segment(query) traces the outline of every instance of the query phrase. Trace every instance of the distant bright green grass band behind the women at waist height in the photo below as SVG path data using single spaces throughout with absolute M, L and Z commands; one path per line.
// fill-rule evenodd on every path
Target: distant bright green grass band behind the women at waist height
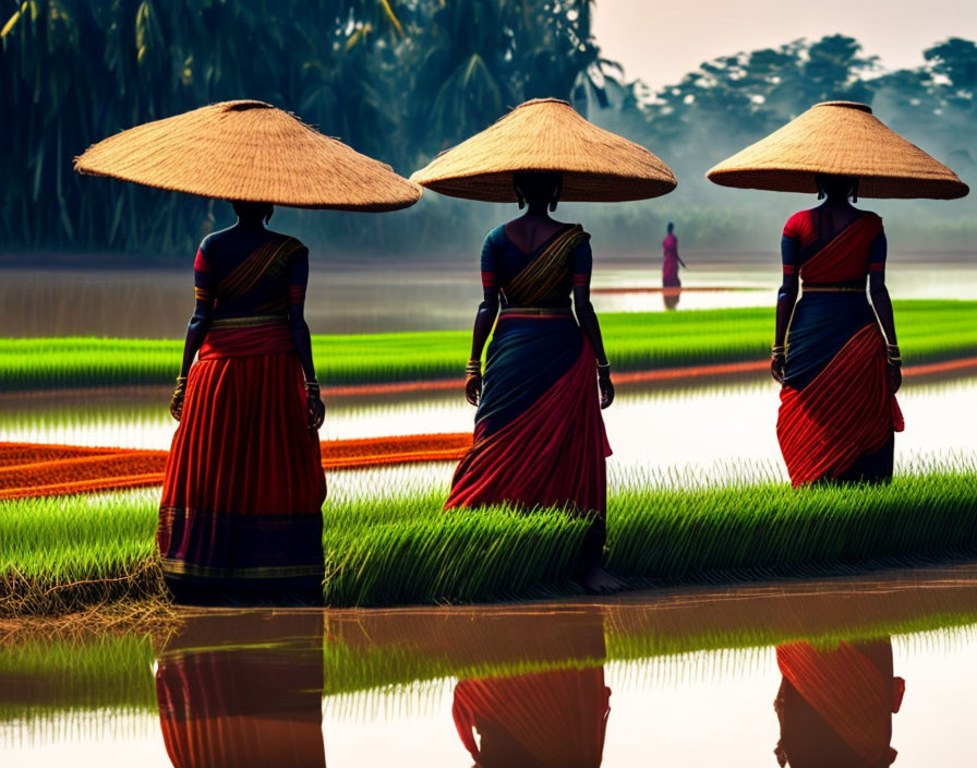
M 907 364 L 977 353 L 977 301 L 895 303 Z M 606 314 L 615 370 L 651 370 L 763 359 L 773 309 Z M 460 376 L 468 331 L 315 336 L 319 377 L 365 384 Z M 0 389 L 171 383 L 182 343 L 170 339 L 2 339 Z

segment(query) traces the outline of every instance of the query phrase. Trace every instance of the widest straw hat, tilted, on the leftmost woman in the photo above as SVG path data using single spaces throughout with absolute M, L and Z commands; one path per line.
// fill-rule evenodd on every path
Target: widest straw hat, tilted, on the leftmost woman
M 421 188 L 263 101 L 225 101 L 137 125 L 75 158 L 81 173 L 204 197 L 395 211 Z

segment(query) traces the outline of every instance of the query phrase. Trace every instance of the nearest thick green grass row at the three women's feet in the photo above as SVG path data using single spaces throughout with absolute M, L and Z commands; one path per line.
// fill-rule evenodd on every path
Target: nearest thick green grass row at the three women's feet
M 390 488 L 398 478 L 391 476 Z M 977 468 L 931 468 L 888 487 L 780 483 L 610 499 L 608 565 L 640 583 L 803 575 L 977 552 Z M 333 605 L 465 602 L 572 591 L 587 523 L 559 511 L 442 509 L 441 491 L 324 507 Z M 0 612 L 52 612 L 161 593 L 157 493 L 0 504 Z

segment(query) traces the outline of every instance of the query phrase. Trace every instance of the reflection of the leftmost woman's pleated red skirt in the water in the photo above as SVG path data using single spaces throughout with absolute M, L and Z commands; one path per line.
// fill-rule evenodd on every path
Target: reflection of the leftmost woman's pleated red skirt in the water
M 323 616 L 191 616 L 156 696 L 174 768 L 325 768 Z

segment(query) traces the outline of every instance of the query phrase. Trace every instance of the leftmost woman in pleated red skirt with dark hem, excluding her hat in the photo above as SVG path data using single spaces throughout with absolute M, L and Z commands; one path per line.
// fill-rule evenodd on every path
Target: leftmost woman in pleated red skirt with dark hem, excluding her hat
M 234 212 L 238 223 L 208 236 L 194 263 L 159 509 L 162 569 L 181 601 L 321 602 L 324 407 L 303 315 L 309 251 L 265 229 L 270 205 Z

